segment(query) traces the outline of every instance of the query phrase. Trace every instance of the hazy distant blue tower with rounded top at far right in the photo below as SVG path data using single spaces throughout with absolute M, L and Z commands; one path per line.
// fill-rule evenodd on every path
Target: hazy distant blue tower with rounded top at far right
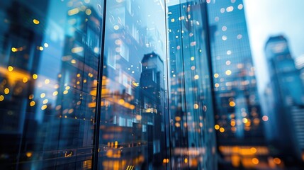
M 303 84 L 300 70 L 282 35 L 269 38 L 265 45 L 265 55 L 269 69 L 269 84 L 266 100 L 269 108 L 269 140 L 283 159 L 302 159 L 303 154 Z

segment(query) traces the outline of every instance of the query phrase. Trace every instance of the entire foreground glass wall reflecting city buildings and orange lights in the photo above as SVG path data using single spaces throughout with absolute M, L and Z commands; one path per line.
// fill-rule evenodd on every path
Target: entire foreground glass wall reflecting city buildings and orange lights
M 201 1 L 1 1 L 4 169 L 216 169 Z

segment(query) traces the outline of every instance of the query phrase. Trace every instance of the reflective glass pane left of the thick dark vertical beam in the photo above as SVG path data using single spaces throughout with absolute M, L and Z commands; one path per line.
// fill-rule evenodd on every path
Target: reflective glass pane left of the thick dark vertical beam
M 100 1 L 1 1 L 1 166 L 91 169 Z

